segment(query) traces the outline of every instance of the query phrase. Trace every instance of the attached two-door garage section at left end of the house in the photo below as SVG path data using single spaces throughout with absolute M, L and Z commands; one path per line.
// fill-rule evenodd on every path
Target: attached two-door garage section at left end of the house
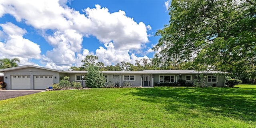
M 64 71 L 33 65 L 0 69 L 4 73 L 7 90 L 45 90 L 52 83 L 59 83 Z

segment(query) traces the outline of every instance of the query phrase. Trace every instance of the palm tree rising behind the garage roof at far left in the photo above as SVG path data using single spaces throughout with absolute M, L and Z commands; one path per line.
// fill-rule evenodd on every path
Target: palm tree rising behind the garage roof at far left
M 6 69 L 9 67 L 17 67 L 18 63 L 20 63 L 20 59 L 19 58 L 12 58 L 12 59 L 8 59 L 8 58 L 4 58 L 4 59 L 0 59 L 0 69 Z

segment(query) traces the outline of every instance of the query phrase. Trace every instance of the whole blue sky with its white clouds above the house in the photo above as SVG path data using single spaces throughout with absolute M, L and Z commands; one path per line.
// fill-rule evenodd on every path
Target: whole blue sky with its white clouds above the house
M 5 0 L 0 58 L 67 70 L 86 55 L 105 65 L 154 57 L 156 31 L 168 24 L 167 0 Z

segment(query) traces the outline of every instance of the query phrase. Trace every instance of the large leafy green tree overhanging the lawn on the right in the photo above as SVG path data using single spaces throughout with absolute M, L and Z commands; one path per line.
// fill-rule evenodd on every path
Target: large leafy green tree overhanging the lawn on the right
M 255 0 L 172 0 L 169 10 L 170 24 L 156 33 L 160 55 L 178 55 L 196 70 L 256 63 Z

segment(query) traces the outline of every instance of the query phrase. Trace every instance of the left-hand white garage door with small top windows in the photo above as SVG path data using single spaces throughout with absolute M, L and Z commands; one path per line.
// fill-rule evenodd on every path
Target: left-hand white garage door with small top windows
M 30 89 L 30 76 L 12 75 L 12 89 Z

